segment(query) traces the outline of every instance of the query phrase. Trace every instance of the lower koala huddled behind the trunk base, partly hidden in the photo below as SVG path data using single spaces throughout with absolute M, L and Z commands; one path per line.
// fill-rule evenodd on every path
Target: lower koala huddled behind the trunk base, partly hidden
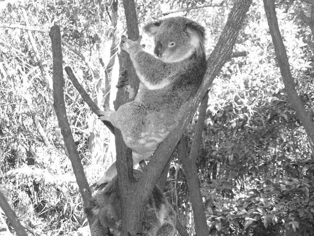
M 135 181 L 142 172 L 133 170 Z M 120 236 L 121 206 L 117 176 L 105 188 L 92 197 L 89 207 L 84 209 L 88 217 L 95 219 L 92 236 Z M 156 185 L 146 206 L 142 236 L 174 236 L 175 211 Z M 112 232 L 108 231 L 108 228 Z

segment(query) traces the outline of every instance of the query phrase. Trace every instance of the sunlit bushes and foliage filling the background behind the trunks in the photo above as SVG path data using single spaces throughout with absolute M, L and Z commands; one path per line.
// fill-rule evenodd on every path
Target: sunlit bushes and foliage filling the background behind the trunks
M 313 6 L 308 2 L 277 1 L 276 10 L 295 87 L 313 118 L 314 43 L 309 27 Z M 143 26 L 171 9 L 203 3 L 221 2 L 137 0 L 138 21 Z M 170 16 L 183 15 L 205 26 L 209 55 L 232 5 L 233 0 L 227 0 L 219 7 Z M 47 32 L 54 23 L 60 25 L 63 40 L 70 44 L 63 45 L 64 65 L 76 71 L 99 107 L 106 102 L 112 105 L 118 69 L 117 63 L 107 66 L 110 48 L 111 56 L 115 55 L 112 45 L 126 29 L 122 3 L 116 27 L 111 6 L 111 1 L 92 0 L 0 1 L 0 189 L 23 224 L 32 229 L 30 234 L 88 235 L 82 200 L 52 108 Z M 37 31 L 30 36 L 12 24 Z M 149 39 L 143 41 L 152 51 Z M 314 150 L 287 98 L 261 1 L 253 1 L 234 51 L 248 55 L 231 59 L 214 80 L 197 160 L 210 234 L 312 236 Z M 112 81 L 107 79 L 109 73 Z M 85 174 L 93 184 L 115 155 L 112 137 L 68 80 L 65 101 Z M 197 118 L 198 113 L 186 133 L 188 139 Z M 177 153 L 166 185 L 178 218 L 194 235 Z M 6 230 L 3 212 L 0 218 Z

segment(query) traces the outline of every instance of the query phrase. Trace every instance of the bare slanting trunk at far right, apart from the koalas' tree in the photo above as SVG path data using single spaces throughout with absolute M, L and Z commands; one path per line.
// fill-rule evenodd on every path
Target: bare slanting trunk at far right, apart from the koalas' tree
M 312 118 L 306 112 L 303 103 L 298 96 L 298 93 L 294 87 L 293 78 L 290 72 L 288 56 L 286 52 L 285 45 L 283 43 L 283 39 L 280 34 L 280 30 L 278 27 L 278 20 L 276 17 L 275 3 L 273 0 L 263 0 L 265 13 L 267 17 L 267 22 L 269 26 L 269 31 L 271 38 L 273 40 L 276 58 L 278 61 L 278 65 L 280 68 L 280 73 L 283 78 L 283 82 L 286 88 L 286 92 L 289 100 L 291 101 L 292 107 L 296 112 L 297 117 L 303 124 L 303 127 L 309 137 L 310 145 L 312 146 L 312 150 L 314 147 L 314 123 Z

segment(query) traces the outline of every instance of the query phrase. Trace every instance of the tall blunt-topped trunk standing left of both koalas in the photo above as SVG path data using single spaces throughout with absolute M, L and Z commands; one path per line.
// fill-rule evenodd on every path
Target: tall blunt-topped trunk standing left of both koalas
M 82 195 L 84 206 L 88 206 L 91 193 L 87 179 L 84 174 L 83 166 L 78 156 L 78 150 L 75 145 L 73 135 L 70 129 L 70 124 L 66 116 L 65 102 L 64 102 L 64 79 L 62 69 L 62 48 L 61 35 L 59 26 L 53 26 L 49 32 L 52 41 L 52 81 L 53 81 L 53 106 L 56 111 L 61 134 L 65 142 L 68 157 L 71 160 L 73 172 L 75 174 L 79 191 Z M 90 226 L 92 225 L 89 219 Z

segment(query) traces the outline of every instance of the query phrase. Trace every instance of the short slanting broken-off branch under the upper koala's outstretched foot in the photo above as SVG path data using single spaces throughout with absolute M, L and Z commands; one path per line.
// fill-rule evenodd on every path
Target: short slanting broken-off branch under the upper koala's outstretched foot
M 78 93 L 81 95 L 82 99 L 86 104 L 89 106 L 89 108 L 98 116 L 98 111 L 100 110 L 99 107 L 96 105 L 96 103 L 93 101 L 93 99 L 90 98 L 88 93 L 85 91 L 85 89 L 79 84 L 78 79 L 75 77 L 71 67 L 66 66 L 64 68 L 65 72 L 68 75 L 69 80 L 71 80 L 74 87 L 78 90 Z M 111 133 L 114 134 L 114 127 L 109 121 L 103 121 L 105 126 L 111 131 Z

